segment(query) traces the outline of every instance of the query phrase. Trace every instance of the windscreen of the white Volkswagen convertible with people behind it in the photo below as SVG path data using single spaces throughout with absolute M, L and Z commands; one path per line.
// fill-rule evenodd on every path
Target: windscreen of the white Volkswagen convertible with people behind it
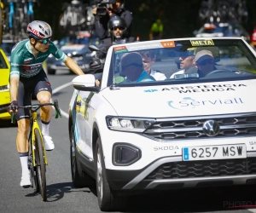
M 128 51 L 127 48 L 122 47 L 122 51 L 113 51 L 111 66 L 113 69 L 108 70 L 109 83 L 115 82 L 120 86 L 137 86 L 146 84 L 168 84 L 168 83 L 188 83 L 206 82 L 209 79 L 212 81 L 222 81 L 224 79 L 240 80 L 242 78 L 256 78 L 256 60 L 253 53 L 247 48 L 245 43 L 239 39 L 213 39 L 214 45 L 193 46 L 189 40 L 178 41 L 173 48 L 158 48 L 158 49 L 138 49 L 137 51 Z M 195 43 L 196 44 L 196 43 Z M 133 44 L 134 45 L 134 44 Z M 185 67 L 185 61 L 193 59 L 189 57 L 195 57 L 196 53 L 201 50 L 208 50 L 212 52 L 212 66 L 213 70 L 202 71 L 199 70 L 199 65 L 194 61 L 193 66 Z M 129 59 L 129 63 L 126 61 L 122 64 L 122 58 L 127 54 L 142 54 L 145 50 L 154 51 L 154 62 L 151 63 L 151 70 L 156 73 L 152 75 L 154 81 L 148 80 L 147 74 L 142 74 L 142 71 L 138 68 L 137 59 Z M 143 60 L 148 62 L 148 60 Z M 216 72 L 213 72 L 216 71 Z M 136 72 L 136 73 L 135 73 Z M 143 72 L 146 71 L 146 65 L 143 63 Z M 189 73 L 187 75 L 186 73 Z M 195 75 L 199 73 L 199 76 Z M 208 75 L 208 73 L 210 73 Z M 149 72 L 148 72 L 149 74 Z M 175 75 L 178 74 L 177 78 Z M 185 75 L 183 75 L 185 74 Z M 192 74 L 192 75 L 191 75 Z M 150 74 L 151 75 L 151 74 Z M 129 77 L 130 76 L 130 77 Z M 146 80 L 143 80 L 146 79 Z

